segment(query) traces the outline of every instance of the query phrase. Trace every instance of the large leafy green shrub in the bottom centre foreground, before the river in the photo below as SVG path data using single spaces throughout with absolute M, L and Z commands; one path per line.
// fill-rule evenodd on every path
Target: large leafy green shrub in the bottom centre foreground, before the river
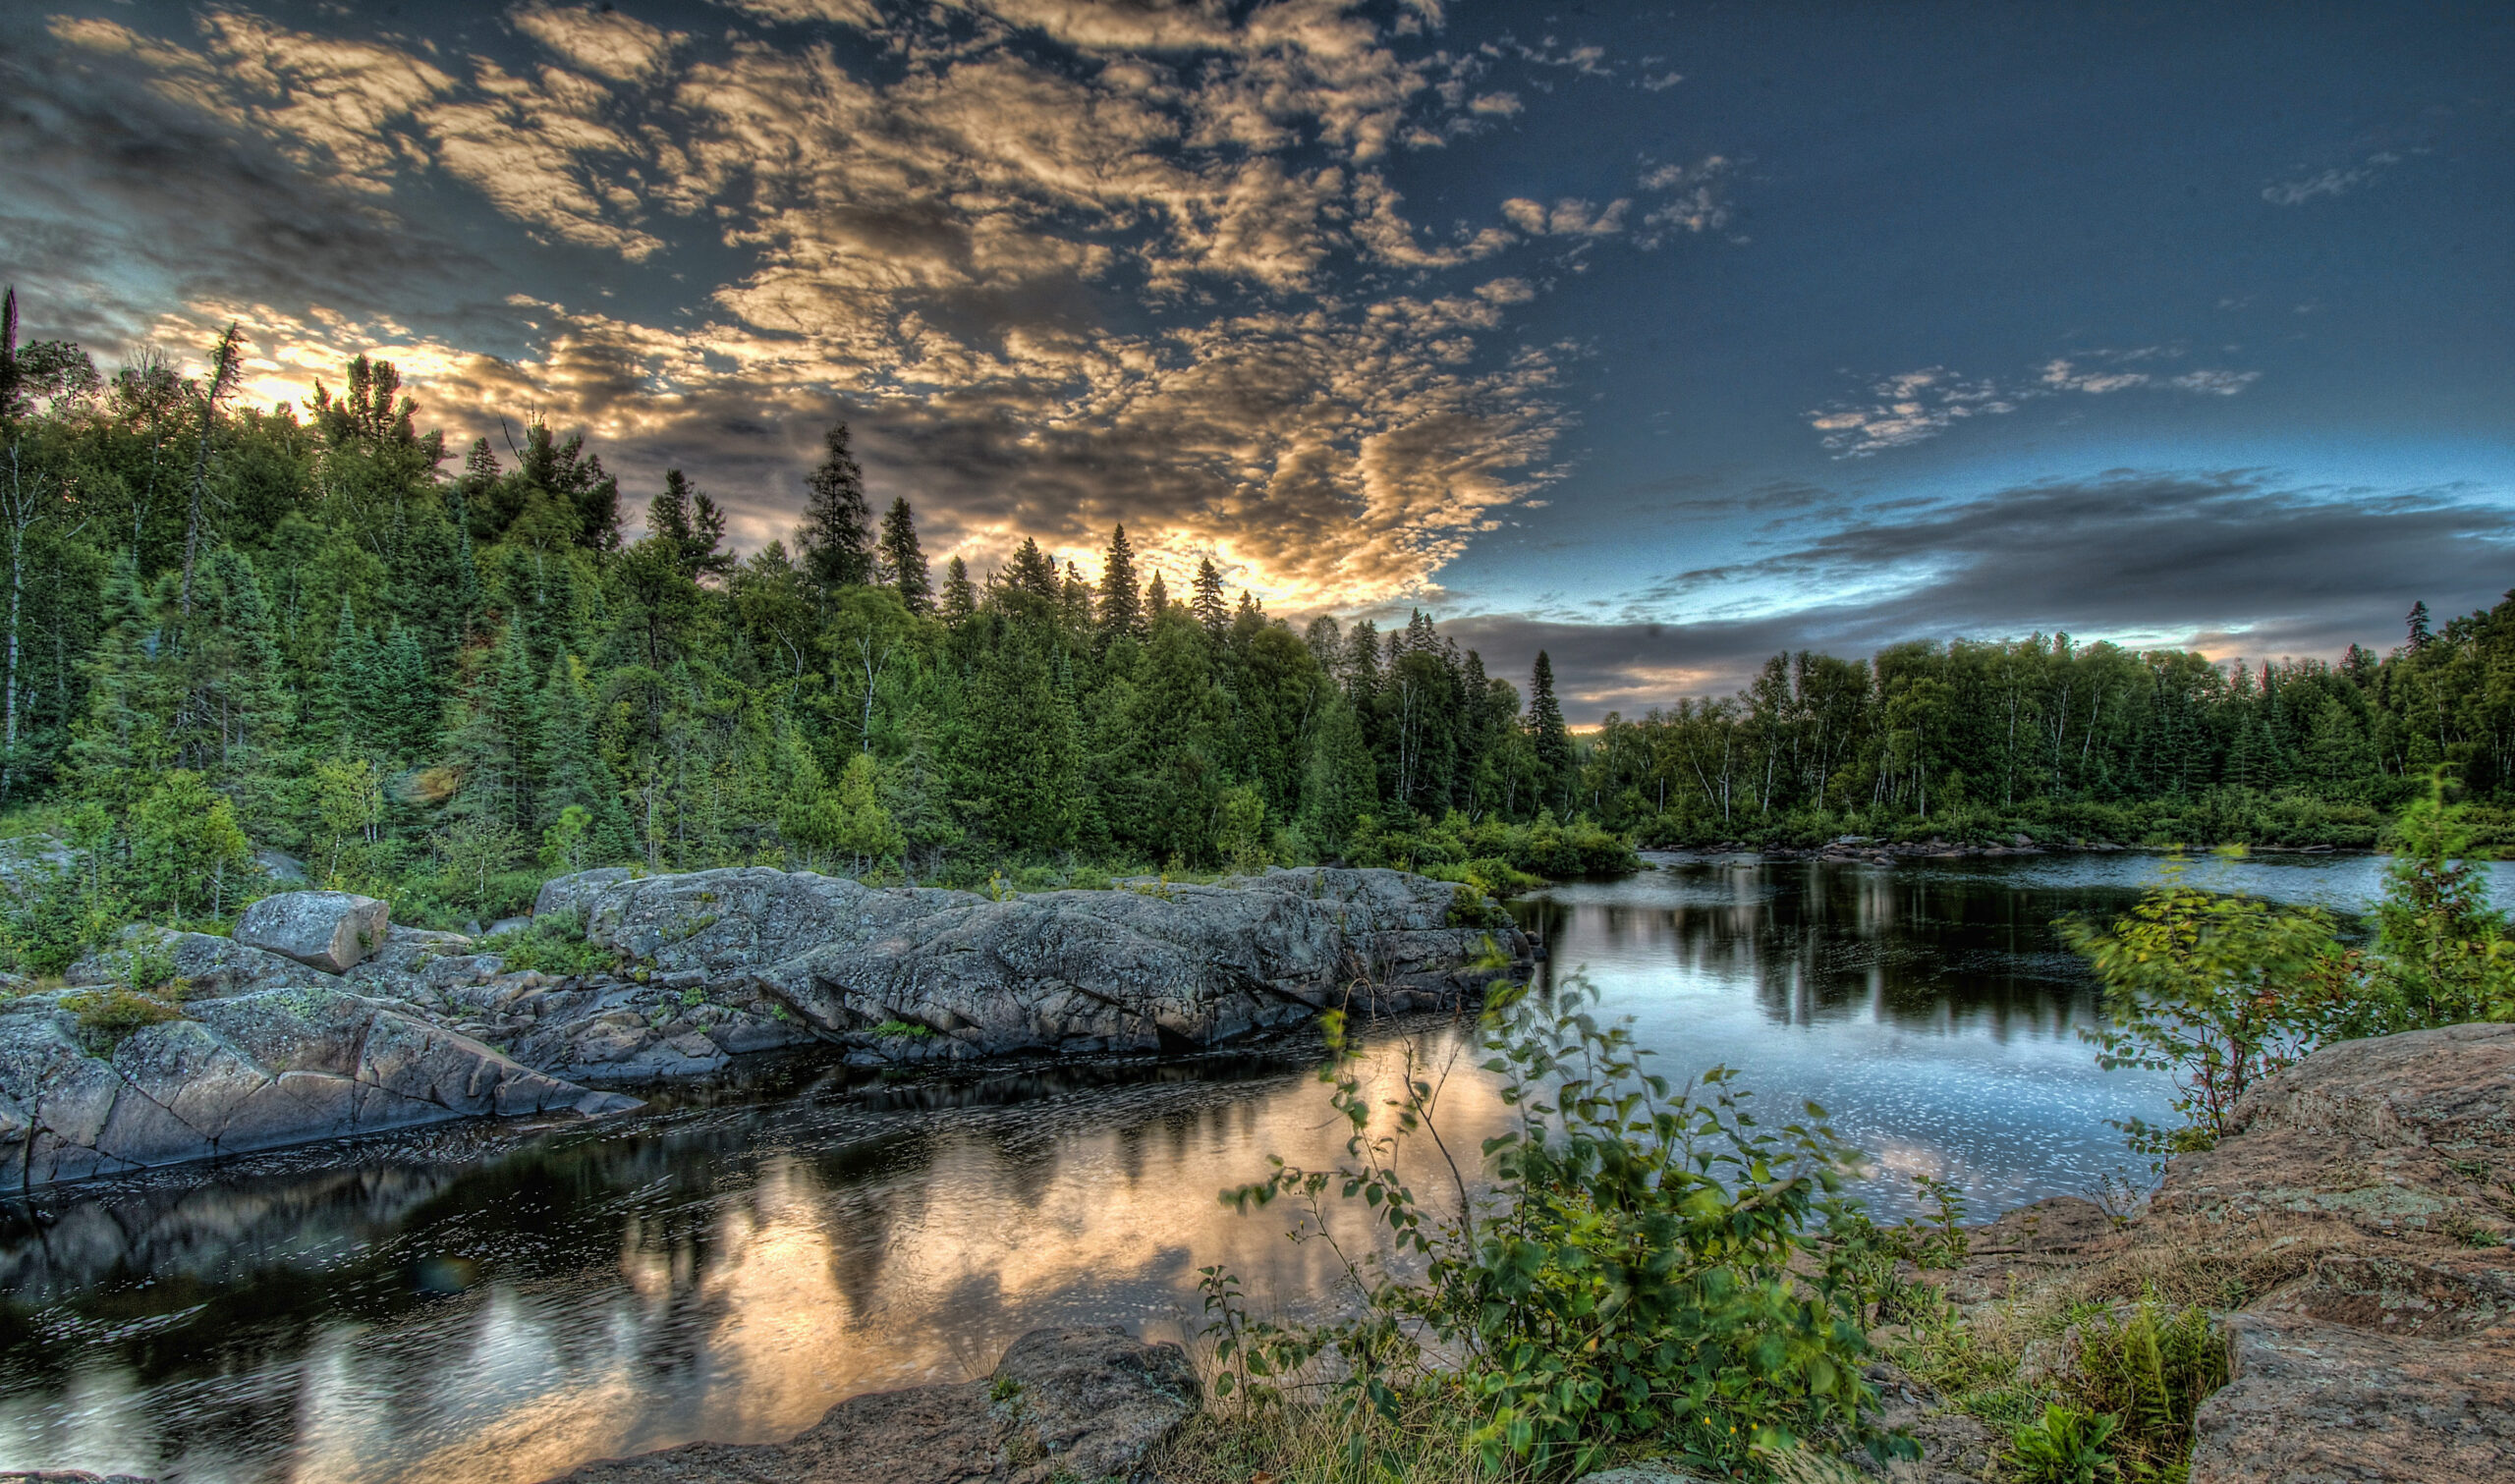
M 1670 1087 L 1645 1071 L 1630 1029 L 1597 1024 L 1592 999 L 1574 981 L 1552 1001 L 1489 1001 L 1486 1069 L 1517 1122 L 1484 1144 L 1476 1190 L 1434 1117 L 1441 1079 L 1413 1046 L 1381 1104 L 1328 1016 L 1320 1077 L 1351 1127 L 1346 1160 L 1278 1162 L 1225 1200 L 1298 1202 L 1303 1230 L 1335 1245 L 1358 1313 L 1310 1328 L 1250 1321 L 1235 1280 L 1207 1268 L 1207 1333 L 1230 1371 L 1217 1391 L 1265 1401 L 1333 1356 L 1338 1406 L 1383 1421 L 1454 1406 L 1489 1469 L 1579 1471 L 1645 1436 L 1730 1469 L 1818 1429 L 1866 1436 L 1861 1300 L 1813 1235 L 1841 1210 L 1849 1152 L 1813 1107 L 1808 1122 L 1760 1127 L 1728 1069 Z M 1406 1182 L 1408 1165 L 1444 1177 L 1439 1205 Z M 1346 1253 L 1328 1202 L 1361 1202 L 1421 1275 Z

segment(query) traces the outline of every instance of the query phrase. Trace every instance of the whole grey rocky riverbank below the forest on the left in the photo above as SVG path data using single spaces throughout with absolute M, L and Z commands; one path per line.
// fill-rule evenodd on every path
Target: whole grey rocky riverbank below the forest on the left
M 636 1099 L 594 1084 L 812 1044 L 890 1066 L 1182 1051 L 1330 1009 L 1456 1006 L 1527 956 L 1491 900 L 1396 870 L 1039 895 L 594 870 L 488 941 L 282 893 L 239 938 L 136 928 L 70 988 L 0 1004 L 0 1165 L 33 1190 L 460 1117 L 604 1117 Z

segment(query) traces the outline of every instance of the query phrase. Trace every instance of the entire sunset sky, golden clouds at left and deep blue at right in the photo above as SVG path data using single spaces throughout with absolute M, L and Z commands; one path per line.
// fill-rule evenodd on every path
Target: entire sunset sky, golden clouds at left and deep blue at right
M 1781 649 L 2392 646 L 2515 586 L 2515 10 L 0 0 L 0 272 L 392 360 L 787 533 L 1431 611 L 1564 709 Z

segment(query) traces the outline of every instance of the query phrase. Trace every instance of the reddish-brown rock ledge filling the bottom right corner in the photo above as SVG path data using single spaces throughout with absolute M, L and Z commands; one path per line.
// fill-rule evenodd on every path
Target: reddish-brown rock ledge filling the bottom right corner
M 2233 1129 L 2153 1215 L 2336 1235 L 2231 1318 L 2193 1484 L 2515 1479 L 2515 1026 L 2329 1046 Z

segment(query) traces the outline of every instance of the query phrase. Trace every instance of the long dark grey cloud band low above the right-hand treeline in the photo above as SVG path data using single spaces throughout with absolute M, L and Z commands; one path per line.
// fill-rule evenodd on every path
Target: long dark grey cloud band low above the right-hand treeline
M 2510 556 L 2515 508 L 2492 490 L 2115 470 L 1849 521 L 1708 581 L 1685 573 L 1640 594 L 1627 621 L 1484 614 L 1441 629 L 1512 679 L 1547 649 L 1567 714 L 1587 722 L 1733 692 L 1771 654 L 1869 656 L 1904 639 L 2067 631 L 2216 659 L 2331 659 L 2349 644 L 2397 644 L 2412 599 L 2440 614 L 2495 604 Z M 1766 601 L 1708 621 L 1650 616 L 1708 589 Z

